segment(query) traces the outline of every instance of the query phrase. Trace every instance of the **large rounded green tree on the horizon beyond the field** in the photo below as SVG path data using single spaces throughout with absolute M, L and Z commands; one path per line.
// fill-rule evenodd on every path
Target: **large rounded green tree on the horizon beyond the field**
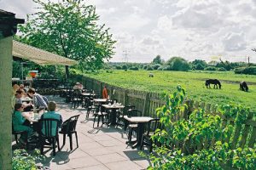
M 187 60 L 181 57 L 172 57 L 166 61 L 166 65 L 170 65 L 172 71 L 189 71 L 190 65 Z

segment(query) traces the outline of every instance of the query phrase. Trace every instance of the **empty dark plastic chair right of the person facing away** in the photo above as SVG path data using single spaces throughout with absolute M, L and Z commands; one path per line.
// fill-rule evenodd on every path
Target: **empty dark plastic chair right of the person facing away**
M 59 133 L 63 134 L 63 145 L 66 144 L 66 135 L 69 137 L 70 143 L 70 150 L 73 150 L 73 143 L 72 143 L 72 134 L 75 133 L 77 139 L 77 147 L 79 147 L 78 141 L 78 133 L 76 131 L 77 122 L 80 115 L 72 116 L 67 121 L 63 122 L 61 126 L 61 131 Z

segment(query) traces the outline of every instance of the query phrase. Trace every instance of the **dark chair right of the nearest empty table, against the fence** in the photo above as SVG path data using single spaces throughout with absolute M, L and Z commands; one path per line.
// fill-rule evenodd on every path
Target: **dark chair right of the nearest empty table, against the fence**
M 155 130 L 160 127 L 160 119 L 152 119 L 151 121 L 148 122 L 147 128 L 145 133 L 143 133 L 143 139 L 142 143 L 140 146 L 140 149 L 143 149 L 143 145 L 148 145 L 149 146 L 149 152 L 152 152 L 152 144 L 153 140 L 151 139 L 152 135 L 154 134 Z

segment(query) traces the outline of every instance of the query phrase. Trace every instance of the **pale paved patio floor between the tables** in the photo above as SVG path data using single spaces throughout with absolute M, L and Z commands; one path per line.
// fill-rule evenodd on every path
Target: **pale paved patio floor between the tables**
M 66 144 L 60 151 L 56 152 L 56 156 L 52 156 L 52 150 L 44 149 L 44 166 L 53 170 L 137 170 L 148 167 L 148 160 L 138 154 L 140 150 L 131 149 L 131 146 L 125 144 L 127 136 L 121 127 L 103 125 L 102 127 L 93 128 L 93 117 L 90 115 L 89 119 L 85 120 L 85 110 L 83 108 L 71 109 L 71 104 L 65 103 L 65 99 L 48 97 L 49 100 L 57 102 L 57 111 L 61 113 L 63 121 L 70 116 L 80 114 L 77 125 L 79 147 L 76 147 L 76 140 L 73 135 L 73 150 L 70 150 L 69 138 L 66 138 Z M 62 134 L 60 134 L 60 144 L 62 145 Z M 146 148 L 144 148 L 144 152 L 148 154 Z

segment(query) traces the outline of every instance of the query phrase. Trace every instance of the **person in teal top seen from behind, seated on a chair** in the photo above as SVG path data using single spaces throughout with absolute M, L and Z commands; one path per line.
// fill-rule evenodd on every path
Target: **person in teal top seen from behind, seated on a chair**
M 56 119 L 58 120 L 58 124 L 55 125 L 54 127 L 58 127 L 58 128 L 61 128 L 61 125 L 62 125 L 62 116 L 61 114 L 57 113 L 55 110 L 56 110 L 56 103 L 54 101 L 50 101 L 49 104 L 48 104 L 48 112 L 45 112 L 42 116 L 41 116 L 41 119 Z M 55 128 L 54 128 L 55 129 Z M 54 133 L 54 129 L 52 131 L 52 133 Z M 43 126 L 43 129 L 42 129 L 42 133 L 44 134 L 45 132 L 45 129 L 44 129 L 44 126 Z

